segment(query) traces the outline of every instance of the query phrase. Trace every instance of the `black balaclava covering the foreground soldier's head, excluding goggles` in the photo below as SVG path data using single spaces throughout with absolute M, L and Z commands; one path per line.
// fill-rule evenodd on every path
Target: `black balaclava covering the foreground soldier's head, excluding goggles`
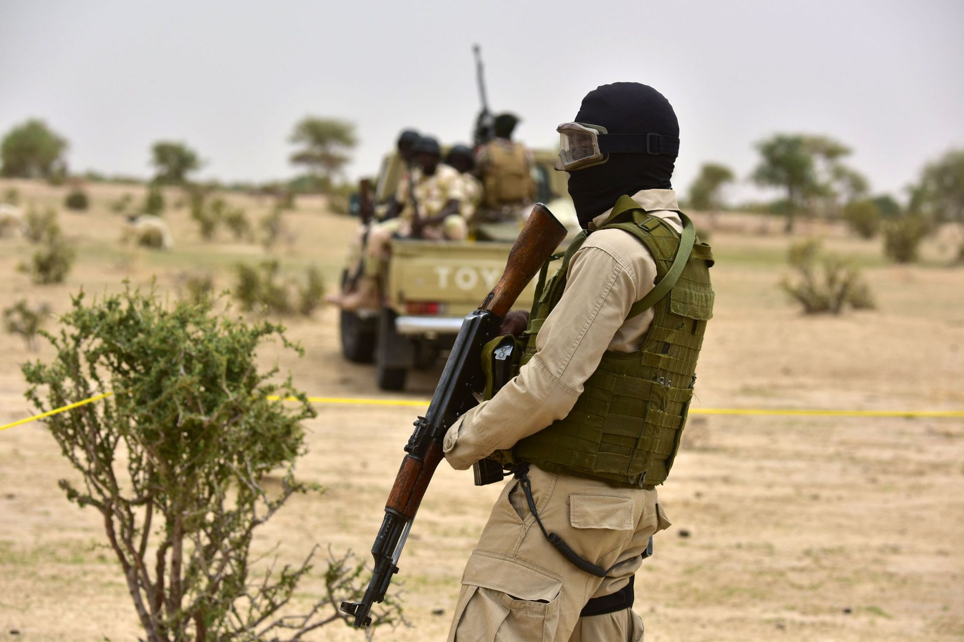
M 663 94 L 639 83 L 613 83 L 590 91 L 582 99 L 576 122 L 602 125 L 609 134 L 680 136 L 673 106 Z M 569 173 L 569 194 L 583 228 L 616 204 L 623 194 L 669 190 L 675 156 L 609 154 L 602 165 Z

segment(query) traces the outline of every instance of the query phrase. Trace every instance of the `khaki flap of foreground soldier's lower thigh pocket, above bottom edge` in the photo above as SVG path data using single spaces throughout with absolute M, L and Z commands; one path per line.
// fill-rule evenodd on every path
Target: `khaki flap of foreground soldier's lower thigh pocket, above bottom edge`
M 562 578 L 518 559 L 476 551 L 469 557 L 463 584 L 507 593 L 521 600 L 551 602 L 562 590 Z

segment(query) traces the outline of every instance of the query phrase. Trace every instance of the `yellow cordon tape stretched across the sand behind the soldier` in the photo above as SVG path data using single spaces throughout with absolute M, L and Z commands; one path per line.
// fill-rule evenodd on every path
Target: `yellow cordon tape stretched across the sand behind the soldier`
M 104 393 L 92 398 L 86 398 L 74 403 L 70 403 L 61 408 L 48 410 L 40 415 L 27 417 L 13 422 L 13 424 L 0 425 L 0 430 L 13 428 L 14 425 L 28 424 L 30 422 L 50 417 L 58 413 L 78 408 L 88 403 L 94 403 L 102 398 L 107 398 L 114 393 Z M 281 397 L 268 397 L 272 401 L 277 401 Z M 297 397 L 285 397 L 285 401 L 298 401 Z M 428 399 L 371 399 L 371 398 L 351 398 L 351 397 L 308 397 L 309 403 L 318 404 L 340 404 L 340 405 L 366 405 L 366 406 L 411 406 L 424 408 L 428 406 Z M 799 408 L 693 408 L 689 411 L 690 415 L 769 415 L 784 417 L 905 417 L 920 418 L 964 418 L 964 410 L 816 410 Z

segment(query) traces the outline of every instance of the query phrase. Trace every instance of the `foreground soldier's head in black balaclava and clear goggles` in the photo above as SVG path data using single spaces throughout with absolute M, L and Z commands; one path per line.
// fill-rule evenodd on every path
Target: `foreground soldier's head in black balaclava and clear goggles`
M 569 172 L 569 193 L 583 227 L 623 194 L 672 189 L 680 125 L 673 106 L 652 87 L 598 87 L 582 99 L 576 121 L 557 131 L 556 169 Z

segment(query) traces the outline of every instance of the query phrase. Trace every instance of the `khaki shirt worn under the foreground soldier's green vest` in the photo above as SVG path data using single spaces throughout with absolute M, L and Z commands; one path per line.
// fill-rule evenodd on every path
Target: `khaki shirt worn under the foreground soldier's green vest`
M 672 190 L 644 190 L 632 198 L 647 214 L 683 231 L 679 214 L 668 211 L 679 209 Z M 590 230 L 610 212 L 594 218 Z M 562 298 L 536 335 L 536 353 L 494 398 L 448 429 L 442 449 L 449 464 L 465 470 L 566 417 L 603 352 L 633 352 L 642 346 L 654 312 L 627 316 L 655 280 L 656 261 L 638 239 L 618 229 L 590 234 L 570 262 Z

